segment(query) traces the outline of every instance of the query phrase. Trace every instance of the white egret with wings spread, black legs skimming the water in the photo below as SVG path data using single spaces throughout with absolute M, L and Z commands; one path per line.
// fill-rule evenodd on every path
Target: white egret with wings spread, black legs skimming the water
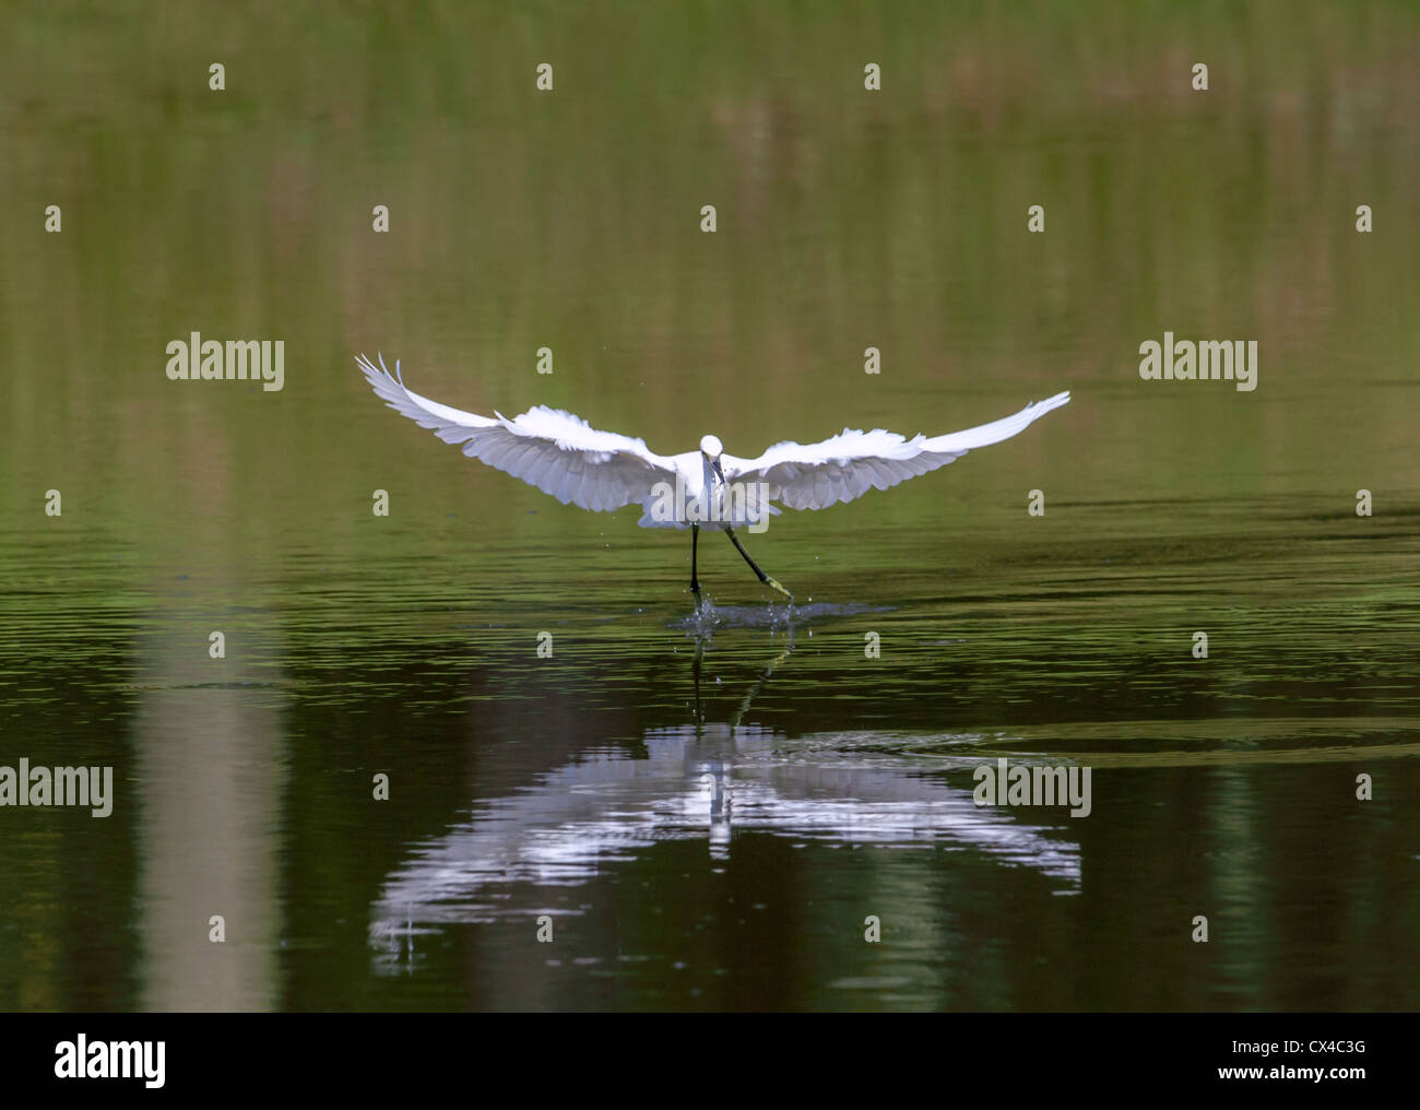
M 645 440 L 598 432 L 585 420 L 544 405 L 511 420 L 501 413 L 477 416 L 440 405 L 405 388 L 399 363 L 395 375 L 381 356 L 376 368 L 361 355 L 356 362 L 375 393 L 390 409 L 444 443 L 463 444 L 470 458 L 507 471 L 564 505 L 608 512 L 639 504 L 642 528 L 690 528 L 690 589 L 700 598 L 696 548 L 700 529 L 723 531 L 758 575 L 760 582 L 792 600 L 792 595 L 760 569 L 734 529 L 751 528 L 788 508 L 826 508 L 852 501 L 868 490 L 900 481 L 951 463 L 974 447 L 1008 440 L 1051 409 L 1069 402 L 1069 392 L 1027 405 L 1014 416 L 946 436 L 906 439 L 895 432 L 843 429 L 822 443 L 777 443 L 758 458 L 726 454 L 716 436 L 682 454 L 656 454 Z

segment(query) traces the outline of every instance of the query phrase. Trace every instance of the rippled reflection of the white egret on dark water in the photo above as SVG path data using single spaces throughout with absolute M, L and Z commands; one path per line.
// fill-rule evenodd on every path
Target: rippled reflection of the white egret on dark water
M 981 737 L 790 737 L 748 721 L 794 656 L 792 626 L 780 634 L 787 640 L 723 721 L 707 720 L 709 636 L 692 634 L 687 724 L 646 728 L 638 738 L 643 755 L 608 737 L 535 782 L 474 799 L 473 813 L 443 835 L 410 843 L 371 906 L 375 965 L 409 969 L 422 933 L 547 913 L 547 887 L 591 883 L 670 840 L 703 840 L 720 862 L 747 833 L 795 843 L 936 843 L 1031 867 L 1061 893 L 1078 893 L 1079 845 L 1068 830 L 1031 825 L 1018 809 L 978 808 L 970 785 L 949 784 L 947 772 L 981 761 Z

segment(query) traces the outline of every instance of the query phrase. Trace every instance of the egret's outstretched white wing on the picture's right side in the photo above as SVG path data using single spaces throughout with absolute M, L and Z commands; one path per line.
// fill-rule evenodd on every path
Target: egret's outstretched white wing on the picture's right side
M 822 443 L 777 443 L 758 458 L 721 456 L 726 478 L 763 481 L 770 497 L 790 508 L 826 508 L 852 501 L 868 490 L 888 490 L 900 481 L 944 467 L 973 447 L 1008 440 L 1031 422 L 1069 402 L 1069 393 L 1027 405 L 1015 416 L 990 424 L 927 439 L 905 439 L 896 432 L 843 429 Z

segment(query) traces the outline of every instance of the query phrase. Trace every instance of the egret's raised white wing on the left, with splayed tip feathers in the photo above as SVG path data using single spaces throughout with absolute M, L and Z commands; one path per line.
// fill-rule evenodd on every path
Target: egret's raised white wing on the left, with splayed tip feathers
M 673 463 L 650 451 L 643 440 L 598 432 L 572 413 L 542 405 L 511 420 L 497 413 L 466 413 L 406 389 L 403 378 L 385 368 L 383 358 L 378 368 L 364 355 L 355 361 L 390 409 L 444 443 L 462 443 L 470 458 L 523 478 L 564 505 L 604 512 L 645 501 L 657 483 L 674 484 Z

